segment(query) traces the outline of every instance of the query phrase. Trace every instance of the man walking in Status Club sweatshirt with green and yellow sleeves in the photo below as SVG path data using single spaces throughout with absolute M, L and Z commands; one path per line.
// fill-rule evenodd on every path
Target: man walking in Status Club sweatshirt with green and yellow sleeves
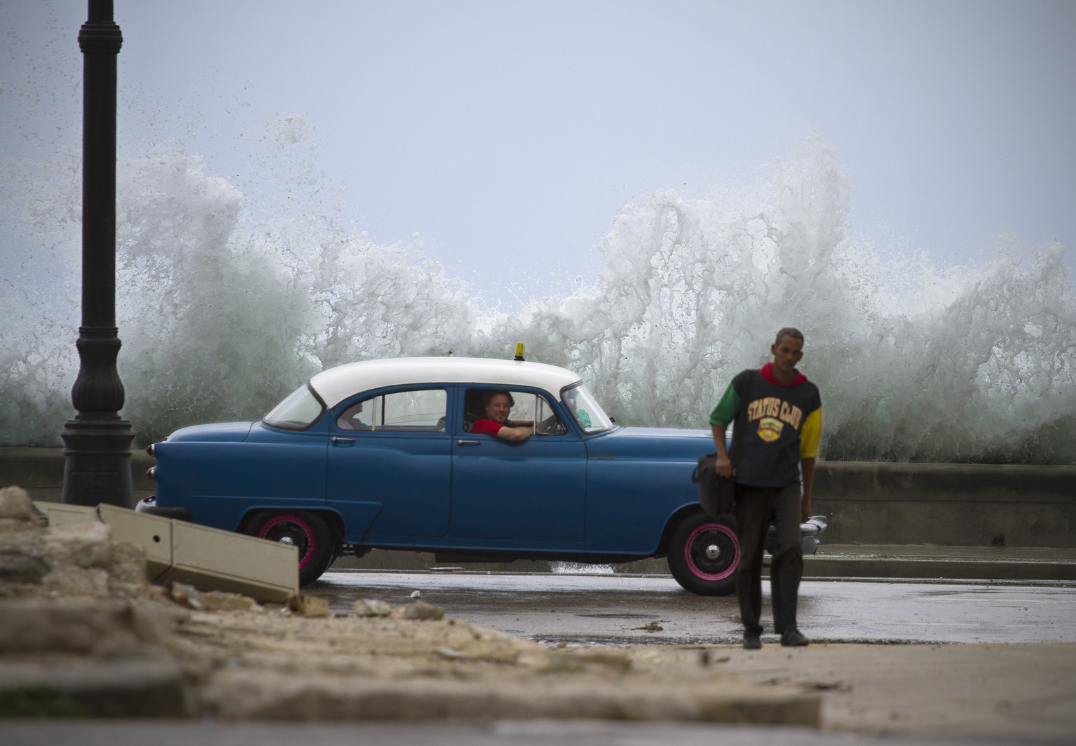
M 736 482 L 736 523 L 742 553 L 736 591 L 744 647 L 749 650 L 762 647 L 762 550 L 770 520 L 777 527 L 777 550 L 769 571 L 775 631 L 781 635 L 781 645 L 808 642 L 796 629 L 796 596 L 804 571 L 799 522 L 810 516 L 822 399 L 818 387 L 796 370 L 803 346 L 798 329 L 781 329 L 769 348 L 774 361 L 737 374 L 710 414 L 718 449 L 716 470 Z M 733 421 L 730 454 L 725 428 Z

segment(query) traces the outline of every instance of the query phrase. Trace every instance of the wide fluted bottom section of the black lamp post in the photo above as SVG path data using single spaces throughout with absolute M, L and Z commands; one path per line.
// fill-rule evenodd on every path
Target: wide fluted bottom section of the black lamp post
M 118 416 L 79 415 L 63 424 L 63 497 L 70 505 L 134 507 L 131 424 Z

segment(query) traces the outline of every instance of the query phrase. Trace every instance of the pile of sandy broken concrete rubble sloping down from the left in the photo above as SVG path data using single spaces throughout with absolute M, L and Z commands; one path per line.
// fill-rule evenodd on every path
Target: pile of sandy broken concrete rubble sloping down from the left
M 48 527 L 0 491 L 0 715 L 223 719 L 619 718 L 819 725 L 820 698 L 624 651 L 556 649 L 421 600 L 151 585 L 105 523 Z

